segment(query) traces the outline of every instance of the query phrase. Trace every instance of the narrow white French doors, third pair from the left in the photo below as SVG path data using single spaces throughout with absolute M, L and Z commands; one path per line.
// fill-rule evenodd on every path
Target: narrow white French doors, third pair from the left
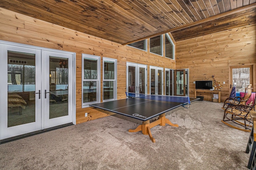
M 150 94 L 163 94 L 163 68 L 150 66 Z

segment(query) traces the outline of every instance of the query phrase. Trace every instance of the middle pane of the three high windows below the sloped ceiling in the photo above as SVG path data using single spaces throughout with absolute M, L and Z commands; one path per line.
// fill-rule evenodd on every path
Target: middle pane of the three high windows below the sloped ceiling
M 162 35 L 150 38 L 150 53 L 155 53 L 158 55 L 163 55 L 163 39 Z

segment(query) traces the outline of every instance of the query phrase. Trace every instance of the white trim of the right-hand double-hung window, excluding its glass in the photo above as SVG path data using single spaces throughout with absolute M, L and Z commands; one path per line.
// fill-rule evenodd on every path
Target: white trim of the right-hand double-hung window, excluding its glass
M 104 78 L 104 61 L 112 61 L 114 62 L 114 71 L 115 71 L 115 75 L 114 75 L 114 80 L 113 79 L 105 79 Z M 102 92 L 104 92 L 104 81 L 113 81 L 114 82 L 114 99 L 107 99 L 107 100 L 104 100 L 104 94 L 102 94 L 102 98 L 103 98 L 103 102 L 108 102 L 108 101 L 112 101 L 112 100 L 116 100 L 117 99 L 117 60 L 116 59 L 110 59 L 110 58 L 106 58 L 106 57 L 103 57 L 103 61 L 102 61 Z

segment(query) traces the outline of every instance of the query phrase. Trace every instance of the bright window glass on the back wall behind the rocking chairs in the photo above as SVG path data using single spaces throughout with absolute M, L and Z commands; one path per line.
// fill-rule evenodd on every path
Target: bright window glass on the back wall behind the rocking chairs
M 250 68 L 232 68 L 232 82 L 237 92 L 243 92 L 250 84 Z

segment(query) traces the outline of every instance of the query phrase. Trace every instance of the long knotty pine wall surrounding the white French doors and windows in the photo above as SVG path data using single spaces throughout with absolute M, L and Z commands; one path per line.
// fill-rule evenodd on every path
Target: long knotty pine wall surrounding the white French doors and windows
M 107 112 L 100 110 L 90 109 L 89 107 L 82 108 L 82 53 L 100 56 L 101 70 L 102 57 L 118 60 L 118 99 L 126 98 L 126 62 L 148 65 L 148 83 L 150 65 L 175 69 L 174 60 L 24 16 L 3 8 L 0 8 L 0 40 L 76 53 L 76 123 L 107 115 Z M 88 112 L 87 117 L 84 117 L 85 112 Z

